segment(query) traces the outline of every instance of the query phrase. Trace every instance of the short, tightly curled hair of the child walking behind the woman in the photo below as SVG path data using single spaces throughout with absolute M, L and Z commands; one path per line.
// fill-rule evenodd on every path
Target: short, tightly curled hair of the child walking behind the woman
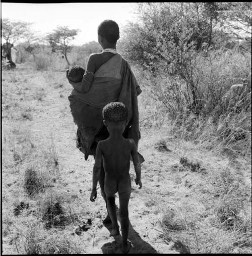
M 119 123 L 128 119 L 128 109 L 121 102 L 112 102 L 103 108 L 102 117 L 105 121 Z

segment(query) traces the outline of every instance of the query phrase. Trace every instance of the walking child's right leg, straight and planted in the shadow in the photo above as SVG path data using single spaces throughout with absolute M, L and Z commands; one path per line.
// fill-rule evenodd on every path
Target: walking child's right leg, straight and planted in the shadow
M 128 244 L 128 236 L 129 236 L 129 211 L 128 205 L 131 196 L 131 191 L 119 193 L 119 215 L 120 215 L 120 223 L 121 223 L 121 236 L 122 236 L 122 252 L 127 253 L 130 249 Z

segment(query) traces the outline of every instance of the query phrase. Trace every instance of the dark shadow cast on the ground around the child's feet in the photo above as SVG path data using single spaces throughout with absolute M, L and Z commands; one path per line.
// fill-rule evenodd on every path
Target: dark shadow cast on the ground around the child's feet
M 118 208 L 116 209 L 116 215 L 118 221 L 119 214 L 118 214 Z M 112 230 L 112 224 L 104 224 L 104 226 L 111 232 Z M 114 241 L 105 243 L 102 245 L 102 253 L 122 253 L 121 251 L 121 234 L 117 236 L 113 236 Z M 131 242 L 131 248 L 129 253 L 158 253 L 149 243 L 144 241 L 140 235 L 134 230 L 130 223 L 129 227 L 129 238 L 128 240 Z

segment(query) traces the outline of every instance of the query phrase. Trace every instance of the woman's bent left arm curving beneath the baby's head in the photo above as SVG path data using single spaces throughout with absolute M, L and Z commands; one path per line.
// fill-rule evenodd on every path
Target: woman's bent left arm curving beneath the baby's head
M 88 59 L 88 64 L 87 64 L 87 69 L 83 75 L 83 78 L 81 82 L 72 82 L 69 77 L 68 77 L 68 71 L 67 70 L 67 78 L 70 84 L 74 87 L 74 89 L 80 93 L 86 93 L 89 91 L 90 86 L 94 80 L 94 73 L 95 73 L 95 61 L 94 58 L 92 57 L 93 55 L 89 56 Z

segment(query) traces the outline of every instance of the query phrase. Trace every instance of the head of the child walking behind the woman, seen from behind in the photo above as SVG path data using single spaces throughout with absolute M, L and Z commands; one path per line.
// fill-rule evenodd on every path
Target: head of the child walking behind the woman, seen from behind
M 107 104 L 102 110 L 102 117 L 106 127 L 117 127 L 124 131 L 128 123 L 128 109 L 121 102 L 112 102 Z

